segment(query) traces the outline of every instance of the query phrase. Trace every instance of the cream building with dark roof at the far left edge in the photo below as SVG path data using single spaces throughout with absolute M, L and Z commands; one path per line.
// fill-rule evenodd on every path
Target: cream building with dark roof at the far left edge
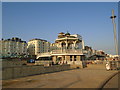
M 0 49 L 1 56 L 26 55 L 27 43 L 20 38 L 13 37 L 12 39 L 0 40 Z

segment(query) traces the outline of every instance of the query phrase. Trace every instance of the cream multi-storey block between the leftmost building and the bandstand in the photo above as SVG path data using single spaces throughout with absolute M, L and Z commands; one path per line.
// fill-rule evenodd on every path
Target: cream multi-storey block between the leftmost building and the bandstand
M 37 55 L 39 53 L 50 52 L 50 42 L 42 39 L 32 39 L 28 42 L 29 55 Z

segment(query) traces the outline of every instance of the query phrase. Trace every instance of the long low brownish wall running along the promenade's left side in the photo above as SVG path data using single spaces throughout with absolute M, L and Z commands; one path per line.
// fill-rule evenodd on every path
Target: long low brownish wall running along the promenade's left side
M 54 65 L 49 67 L 39 66 L 16 66 L 16 67 L 4 67 L 2 68 L 2 79 L 14 79 L 19 77 L 25 77 L 30 75 L 37 75 L 49 72 L 69 70 L 70 65 Z

